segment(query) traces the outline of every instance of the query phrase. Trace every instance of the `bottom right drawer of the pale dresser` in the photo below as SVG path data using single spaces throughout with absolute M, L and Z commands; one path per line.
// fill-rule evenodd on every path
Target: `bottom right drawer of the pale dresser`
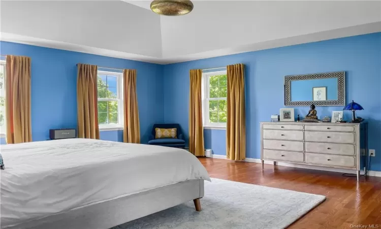
M 305 153 L 305 155 L 306 163 L 341 167 L 356 167 L 356 157 L 315 153 Z

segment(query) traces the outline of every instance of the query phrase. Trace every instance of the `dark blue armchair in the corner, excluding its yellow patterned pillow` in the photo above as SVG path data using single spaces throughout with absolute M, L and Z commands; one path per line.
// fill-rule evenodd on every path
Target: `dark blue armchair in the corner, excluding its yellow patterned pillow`
M 177 138 L 158 138 L 155 139 L 155 128 L 176 128 L 177 129 Z M 166 147 L 185 147 L 184 136 L 181 132 L 181 128 L 179 124 L 154 124 L 152 127 L 151 136 L 149 136 L 149 145 L 156 146 L 166 146 Z

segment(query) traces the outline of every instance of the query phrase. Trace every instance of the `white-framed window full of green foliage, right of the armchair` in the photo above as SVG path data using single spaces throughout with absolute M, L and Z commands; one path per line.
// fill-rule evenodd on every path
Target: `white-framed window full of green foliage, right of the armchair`
M 227 120 L 226 71 L 203 73 L 203 118 L 206 128 L 225 128 Z

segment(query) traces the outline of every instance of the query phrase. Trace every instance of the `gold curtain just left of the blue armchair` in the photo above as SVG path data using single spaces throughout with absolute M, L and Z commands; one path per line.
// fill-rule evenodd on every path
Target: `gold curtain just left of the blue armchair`
M 123 141 L 140 143 L 138 99 L 136 96 L 136 70 L 123 70 L 124 128 Z

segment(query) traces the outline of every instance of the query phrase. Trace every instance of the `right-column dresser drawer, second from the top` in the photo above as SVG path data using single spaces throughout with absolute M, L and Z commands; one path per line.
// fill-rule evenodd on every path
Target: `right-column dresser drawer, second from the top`
M 306 141 L 355 143 L 355 133 L 350 132 L 305 131 L 304 136 Z

